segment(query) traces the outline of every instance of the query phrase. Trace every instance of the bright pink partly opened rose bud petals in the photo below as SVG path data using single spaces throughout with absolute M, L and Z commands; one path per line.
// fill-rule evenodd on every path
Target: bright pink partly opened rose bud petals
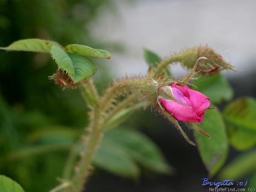
M 158 99 L 163 107 L 166 108 L 166 111 L 172 114 L 175 119 L 184 122 L 202 122 L 204 111 L 208 109 L 210 105 L 207 96 L 189 87 L 178 84 L 163 87 L 163 90 L 169 90 L 171 92 L 169 94 L 179 101 L 164 99 L 161 96 Z

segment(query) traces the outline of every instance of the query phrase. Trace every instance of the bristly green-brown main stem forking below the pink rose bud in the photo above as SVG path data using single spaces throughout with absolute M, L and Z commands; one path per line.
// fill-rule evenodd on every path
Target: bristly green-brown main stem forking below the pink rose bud
M 167 62 L 167 61 L 166 61 Z M 165 67 L 167 64 L 164 64 Z M 159 70 L 164 69 L 161 67 Z M 99 96 L 92 79 L 82 85 L 82 94 L 85 101 L 91 109 L 89 113 L 90 124 L 87 128 L 89 132 L 87 136 L 79 141 L 70 153 L 68 164 L 73 164 L 78 152 L 77 148 L 80 143 L 84 145 L 84 153 L 81 154 L 80 161 L 75 168 L 75 173 L 72 179 L 73 191 L 82 191 L 87 177 L 92 169 L 91 163 L 103 136 L 103 128 L 113 128 L 119 125 L 125 119 L 126 114 L 137 108 L 142 107 L 141 103 L 135 104 L 137 99 L 141 99 L 143 95 L 148 98 L 154 98 L 156 94 L 156 81 L 148 77 L 126 77 L 119 81 L 115 81 L 112 87 L 109 87 L 103 96 Z M 127 96 L 126 99 L 119 101 L 120 96 Z M 67 166 L 64 172 L 64 178 L 69 178 L 70 165 Z

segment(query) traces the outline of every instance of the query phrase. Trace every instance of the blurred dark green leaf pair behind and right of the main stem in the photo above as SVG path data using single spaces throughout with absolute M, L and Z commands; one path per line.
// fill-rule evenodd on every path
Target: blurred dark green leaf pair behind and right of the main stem
M 172 168 L 164 160 L 157 145 L 131 128 L 119 127 L 108 131 L 93 163 L 124 177 L 138 178 L 138 164 L 154 172 L 172 173 Z

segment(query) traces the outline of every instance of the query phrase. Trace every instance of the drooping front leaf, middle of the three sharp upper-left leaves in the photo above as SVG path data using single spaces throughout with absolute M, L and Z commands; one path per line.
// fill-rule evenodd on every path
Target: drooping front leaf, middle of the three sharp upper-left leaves
M 96 66 L 92 61 L 80 55 L 67 53 L 57 45 L 52 46 L 51 54 L 58 67 L 66 71 L 75 83 L 90 78 L 96 72 Z

